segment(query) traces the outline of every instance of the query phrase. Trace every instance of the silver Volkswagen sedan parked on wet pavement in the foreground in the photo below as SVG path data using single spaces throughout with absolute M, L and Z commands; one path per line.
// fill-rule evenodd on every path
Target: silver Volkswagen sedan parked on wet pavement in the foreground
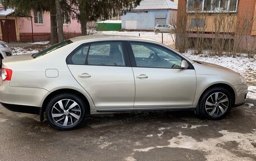
M 93 35 L 3 59 L 0 102 L 70 130 L 89 114 L 194 110 L 221 119 L 248 86 L 227 68 L 193 61 L 149 39 Z

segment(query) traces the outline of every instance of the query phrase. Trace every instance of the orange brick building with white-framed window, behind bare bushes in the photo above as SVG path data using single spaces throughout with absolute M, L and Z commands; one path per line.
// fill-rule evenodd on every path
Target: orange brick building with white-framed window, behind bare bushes
M 182 21 L 185 25 L 177 24 L 178 33 L 185 26 L 189 38 L 215 39 L 218 32 L 235 44 L 238 35 L 246 35 L 240 48 L 255 48 L 256 0 L 180 0 L 177 22 Z

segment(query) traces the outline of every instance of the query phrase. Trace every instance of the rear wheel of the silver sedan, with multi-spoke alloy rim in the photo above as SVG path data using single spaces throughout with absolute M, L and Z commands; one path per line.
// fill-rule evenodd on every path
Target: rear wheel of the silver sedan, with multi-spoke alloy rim
M 45 112 L 51 125 L 60 130 L 72 130 L 84 121 L 86 107 L 79 95 L 64 93 L 53 96 Z

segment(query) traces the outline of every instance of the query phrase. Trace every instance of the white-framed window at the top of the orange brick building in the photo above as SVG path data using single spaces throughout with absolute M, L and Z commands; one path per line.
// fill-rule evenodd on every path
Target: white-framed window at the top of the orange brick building
M 236 12 L 238 0 L 188 0 L 187 12 Z

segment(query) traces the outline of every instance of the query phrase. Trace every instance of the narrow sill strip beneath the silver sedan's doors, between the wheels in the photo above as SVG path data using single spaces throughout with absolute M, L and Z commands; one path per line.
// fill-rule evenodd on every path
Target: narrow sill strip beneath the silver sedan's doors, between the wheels
M 194 110 L 196 107 L 168 107 L 168 108 L 120 108 L 120 109 L 97 109 L 97 112 L 139 112 L 139 111 L 172 111 Z

